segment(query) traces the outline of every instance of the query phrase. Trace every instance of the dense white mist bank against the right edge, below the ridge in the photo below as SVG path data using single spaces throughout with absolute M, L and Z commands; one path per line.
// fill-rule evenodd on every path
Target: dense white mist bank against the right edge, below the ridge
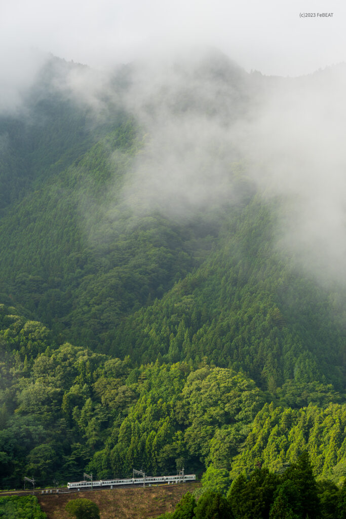
M 346 66 L 272 82 L 237 142 L 260 193 L 280 197 L 286 253 L 318 279 L 344 282 Z

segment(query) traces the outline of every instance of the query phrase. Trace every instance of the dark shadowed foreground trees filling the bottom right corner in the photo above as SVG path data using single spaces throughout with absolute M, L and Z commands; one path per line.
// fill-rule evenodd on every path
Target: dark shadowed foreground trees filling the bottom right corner
M 206 474 L 210 472 L 206 471 Z M 202 489 L 187 493 L 175 511 L 159 519 L 332 519 L 346 516 L 346 485 L 316 482 L 309 456 L 301 454 L 281 474 L 256 468 L 246 479 L 240 474 L 231 483 L 224 474 L 203 476 Z M 212 476 L 212 477 L 211 477 Z

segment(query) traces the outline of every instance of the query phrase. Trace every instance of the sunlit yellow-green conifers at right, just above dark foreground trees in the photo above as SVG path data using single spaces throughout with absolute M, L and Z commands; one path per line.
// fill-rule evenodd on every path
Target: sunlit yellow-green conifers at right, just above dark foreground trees
M 325 408 L 310 404 L 301 409 L 264 405 L 253 421 L 242 453 L 233 459 L 231 476 L 243 470 L 250 473 L 256 463 L 281 470 L 287 463 L 297 462 L 299 455 L 307 451 L 315 475 L 342 482 L 345 413 L 345 404 L 329 404 Z M 335 472 L 337 463 L 340 463 L 339 473 Z

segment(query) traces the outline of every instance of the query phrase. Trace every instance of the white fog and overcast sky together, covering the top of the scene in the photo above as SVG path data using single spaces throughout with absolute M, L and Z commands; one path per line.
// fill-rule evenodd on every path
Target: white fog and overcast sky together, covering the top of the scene
M 331 2 L 333 17 L 310 20 L 300 10 L 296 1 L 280 9 L 221 0 L 7 3 L 0 113 L 20 116 L 47 52 L 90 65 L 70 64 L 68 73 L 63 65 L 52 85 L 95 119 L 110 102 L 142 128 L 145 144 L 123 190 L 133 210 L 189 217 L 237 202 L 232 179 L 242 161 L 262 196 L 285 200 L 278 247 L 309 271 L 341 279 L 346 85 L 334 63 L 345 60 L 346 8 Z M 124 70 L 126 88 L 117 84 Z

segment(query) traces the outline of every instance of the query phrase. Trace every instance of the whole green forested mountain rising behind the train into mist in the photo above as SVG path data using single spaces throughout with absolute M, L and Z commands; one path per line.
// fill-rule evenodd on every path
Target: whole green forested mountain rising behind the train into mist
M 291 199 L 236 137 L 284 80 L 159 70 L 50 58 L 0 114 L 1 484 L 305 451 L 340 483 L 346 291 L 281 243 Z

